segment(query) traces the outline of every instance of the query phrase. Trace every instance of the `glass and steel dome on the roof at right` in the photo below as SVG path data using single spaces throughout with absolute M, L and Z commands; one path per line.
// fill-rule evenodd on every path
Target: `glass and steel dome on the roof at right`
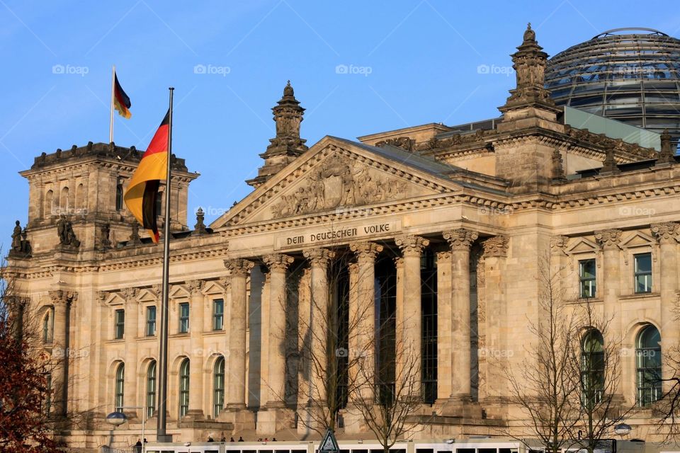
M 658 30 L 608 30 L 560 52 L 545 88 L 557 105 L 680 138 L 680 40 Z

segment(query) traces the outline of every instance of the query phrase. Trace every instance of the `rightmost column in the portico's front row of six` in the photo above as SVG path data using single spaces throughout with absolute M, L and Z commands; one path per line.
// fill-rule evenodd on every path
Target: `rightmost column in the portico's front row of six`
M 477 233 L 455 229 L 444 234 L 451 247 L 453 379 L 451 401 L 470 401 L 470 247 Z

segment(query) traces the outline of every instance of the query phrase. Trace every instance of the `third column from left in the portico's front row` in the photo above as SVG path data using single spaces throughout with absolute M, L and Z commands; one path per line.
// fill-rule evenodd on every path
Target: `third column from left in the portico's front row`
M 302 254 L 310 261 L 310 287 L 311 300 L 310 309 L 312 311 L 312 322 L 310 325 L 310 353 L 312 363 L 310 364 L 310 399 L 321 403 L 326 401 L 326 385 L 329 379 L 327 376 L 328 360 L 334 357 L 327 357 L 327 350 L 333 352 L 336 347 L 329 348 L 329 288 L 328 288 L 328 263 L 335 253 L 327 248 L 312 248 L 305 250 Z M 326 364 L 322 367 L 322 364 Z M 322 369 L 319 369 L 322 367 Z

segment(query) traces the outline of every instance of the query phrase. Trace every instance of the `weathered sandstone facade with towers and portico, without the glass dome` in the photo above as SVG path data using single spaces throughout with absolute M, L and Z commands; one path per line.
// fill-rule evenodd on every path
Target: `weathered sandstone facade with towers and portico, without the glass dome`
M 526 357 L 545 256 L 564 270 L 560 285 L 573 299 L 579 261 L 596 260 L 592 301 L 611 315 L 624 350 L 635 350 L 645 326 L 659 330 L 662 349 L 680 341 L 673 315 L 680 166 L 672 156 L 656 161 L 652 149 L 563 125 L 543 90 L 545 54 L 533 30 L 518 49 L 517 86 L 500 108 L 502 121 L 470 133 L 422 125 L 360 142 L 324 137 L 307 149 L 304 109 L 288 85 L 273 109 L 277 137 L 249 181 L 254 191 L 208 228 L 202 213 L 195 230 L 186 227 L 196 174 L 176 159 L 168 370 L 168 431 L 176 440 L 305 434 L 294 416 L 305 406 L 300 389 L 319 384 L 305 373 L 291 322 L 318 322 L 315 302 L 333 292 L 329 269 L 338 263 L 348 269 L 350 312 L 361 300 L 375 302 L 379 266 L 390 269 L 397 338 L 421 350 L 421 266 L 436 257 L 429 289 L 437 306 L 436 384 L 433 401 L 414 414 L 435 414 L 419 419 L 425 437 L 497 435 L 519 425 L 499 377 L 521 369 Z M 151 401 L 158 336 L 149 313 L 160 313 L 162 248 L 140 238 L 145 232 L 116 206 L 117 186 L 125 188 L 139 158 L 135 149 L 89 144 L 43 154 L 22 173 L 30 185 L 28 225 L 8 259 L 21 295 L 41 316 L 54 313 L 45 348 L 78 352 L 53 377 L 68 383 L 54 411 L 91 414 L 86 428 L 67 433 L 72 445 L 108 440 L 103 416 L 118 405 L 122 364 L 123 406 Z M 77 246 L 62 240 L 60 219 Z M 636 292 L 635 256 L 643 253 L 652 257 L 651 288 Z M 633 404 L 635 355 L 622 357 L 621 399 Z M 186 360 L 191 384 L 181 389 Z M 425 379 L 427 370 L 418 372 Z M 117 431 L 136 438 L 142 411 L 125 411 L 133 418 Z M 147 430 L 155 427 L 152 412 Z M 365 431 L 341 413 L 347 435 Z M 655 437 L 649 408 L 627 423 L 633 437 Z

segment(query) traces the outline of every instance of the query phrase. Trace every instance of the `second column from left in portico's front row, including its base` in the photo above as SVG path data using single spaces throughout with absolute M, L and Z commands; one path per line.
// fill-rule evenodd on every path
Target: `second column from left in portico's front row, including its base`
M 263 256 L 269 268 L 268 328 L 263 329 L 262 341 L 268 343 L 268 400 L 258 414 L 258 434 L 274 434 L 290 428 L 293 414 L 285 410 L 285 304 L 286 270 L 293 257 L 283 253 Z

